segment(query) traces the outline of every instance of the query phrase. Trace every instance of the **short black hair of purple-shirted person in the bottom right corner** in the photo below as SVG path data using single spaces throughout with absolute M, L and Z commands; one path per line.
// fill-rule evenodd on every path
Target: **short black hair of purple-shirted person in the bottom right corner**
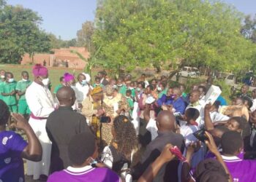
M 224 154 L 234 155 L 243 146 L 243 138 L 236 131 L 225 132 L 222 135 L 221 145 Z

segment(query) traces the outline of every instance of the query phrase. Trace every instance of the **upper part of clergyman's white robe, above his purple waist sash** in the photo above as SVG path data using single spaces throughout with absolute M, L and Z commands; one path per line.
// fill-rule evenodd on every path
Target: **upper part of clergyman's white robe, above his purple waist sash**
M 48 87 L 32 82 L 26 90 L 25 97 L 34 116 L 48 117 L 54 111 L 53 95 Z

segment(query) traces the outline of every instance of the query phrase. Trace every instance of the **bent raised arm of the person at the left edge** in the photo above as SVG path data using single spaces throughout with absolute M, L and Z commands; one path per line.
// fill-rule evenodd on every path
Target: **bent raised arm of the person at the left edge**
M 39 162 L 42 159 L 42 146 L 39 143 L 37 136 L 34 134 L 29 123 L 20 114 L 12 114 L 13 119 L 16 123 L 12 126 L 23 130 L 28 138 L 28 146 L 23 150 L 21 157 L 29 159 L 34 162 Z

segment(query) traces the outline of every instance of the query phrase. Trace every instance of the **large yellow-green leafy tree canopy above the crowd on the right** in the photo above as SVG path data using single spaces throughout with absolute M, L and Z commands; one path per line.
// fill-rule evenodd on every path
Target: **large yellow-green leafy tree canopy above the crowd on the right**
M 94 44 L 112 69 L 170 63 L 238 71 L 255 44 L 241 35 L 243 15 L 220 1 L 101 0 Z

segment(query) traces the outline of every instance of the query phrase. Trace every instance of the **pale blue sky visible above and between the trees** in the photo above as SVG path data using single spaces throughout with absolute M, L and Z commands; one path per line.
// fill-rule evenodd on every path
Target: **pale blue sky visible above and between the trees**
M 117 0 L 118 1 L 118 0 Z M 256 14 L 256 0 L 223 0 L 239 11 Z M 41 27 L 61 39 L 76 38 L 77 31 L 86 20 L 94 20 L 97 0 L 7 0 L 8 4 L 21 4 L 42 17 Z

